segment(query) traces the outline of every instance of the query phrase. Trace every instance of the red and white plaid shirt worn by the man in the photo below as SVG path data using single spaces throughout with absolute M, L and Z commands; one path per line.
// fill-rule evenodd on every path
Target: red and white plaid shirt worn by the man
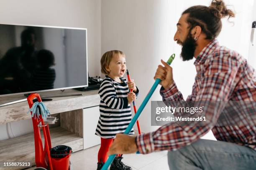
M 241 55 L 220 46 L 217 40 L 210 42 L 200 52 L 194 65 L 197 75 L 192 94 L 186 101 L 256 101 L 255 70 Z M 184 101 L 175 82 L 167 89 L 161 87 L 160 94 L 166 105 L 170 101 Z M 210 114 L 212 120 L 218 120 L 220 112 L 223 111 L 223 108 L 218 108 L 217 112 L 206 114 Z M 241 116 L 248 116 L 246 112 L 243 114 Z M 217 140 L 256 150 L 255 112 L 251 114 L 254 124 L 250 126 L 175 126 L 174 123 L 168 123 L 155 132 L 138 135 L 136 144 L 139 152 L 143 154 L 160 150 L 174 151 L 190 145 L 212 130 Z

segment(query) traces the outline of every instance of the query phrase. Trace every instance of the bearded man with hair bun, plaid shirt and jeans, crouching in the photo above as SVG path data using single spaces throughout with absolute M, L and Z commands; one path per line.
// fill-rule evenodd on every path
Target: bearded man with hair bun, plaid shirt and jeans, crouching
M 256 101 L 255 70 L 241 55 L 220 46 L 215 39 L 221 31 L 221 18 L 225 16 L 235 15 L 222 0 L 213 0 L 210 7 L 189 7 L 177 23 L 174 41 L 182 45 L 182 59 L 196 58 L 197 75 L 186 102 Z M 173 80 L 172 67 L 161 62 L 164 66 L 159 65 L 154 79 L 161 79 L 163 101 L 168 105 L 171 101 L 184 100 Z M 211 123 L 220 119 L 220 113 L 226 108 L 224 103 L 214 112 L 206 113 Z M 256 168 L 255 108 L 238 114 L 248 122 L 242 120 L 242 125 L 225 126 L 170 123 L 137 137 L 118 134 L 108 154 L 169 150 L 171 170 L 252 170 Z M 200 139 L 209 130 L 218 141 Z

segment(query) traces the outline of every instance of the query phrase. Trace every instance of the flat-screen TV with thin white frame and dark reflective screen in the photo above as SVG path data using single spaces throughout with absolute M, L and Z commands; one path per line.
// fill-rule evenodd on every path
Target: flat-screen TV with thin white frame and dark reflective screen
M 88 86 L 87 29 L 0 24 L 0 96 Z

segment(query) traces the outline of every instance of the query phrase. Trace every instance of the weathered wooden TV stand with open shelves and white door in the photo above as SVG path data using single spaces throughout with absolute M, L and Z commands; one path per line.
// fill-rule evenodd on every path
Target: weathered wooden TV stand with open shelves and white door
M 66 95 L 79 93 L 81 92 L 73 89 L 65 90 Z M 68 145 L 72 148 L 73 152 L 76 152 L 92 147 L 95 145 L 96 139 L 97 144 L 100 144 L 100 138 L 95 135 L 97 120 L 100 115 L 100 96 L 98 95 L 98 90 L 82 92 L 82 94 L 79 96 L 56 97 L 52 101 L 45 102 L 51 115 L 59 117 L 59 121 L 50 127 L 52 147 Z M 42 92 L 40 95 L 64 94 L 57 90 Z M 22 98 L 24 98 L 23 94 L 0 97 L 0 103 Z M 31 114 L 27 114 L 28 110 L 27 101 L 0 107 L 0 124 L 26 119 L 31 120 Z M 0 161 L 2 162 L 12 162 L 15 160 L 18 162 L 30 162 L 31 165 L 35 165 L 34 134 L 29 133 L 16 138 L 1 140 L 0 151 Z M 21 168 L 11 167 L 3 168 L 3 170 L 20 170 Z

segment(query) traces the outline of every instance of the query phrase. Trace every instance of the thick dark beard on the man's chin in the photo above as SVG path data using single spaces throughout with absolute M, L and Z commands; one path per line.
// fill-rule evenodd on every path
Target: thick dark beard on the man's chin
M 193 59 L 195 48 L 197 47 L 197 43 L 191 34 L 187 35 L 187 38 L 184 42 L 177 42 L 182 45 L 182 52 L 180 56 L 182 57 L 183 61 L 188 61 Z

